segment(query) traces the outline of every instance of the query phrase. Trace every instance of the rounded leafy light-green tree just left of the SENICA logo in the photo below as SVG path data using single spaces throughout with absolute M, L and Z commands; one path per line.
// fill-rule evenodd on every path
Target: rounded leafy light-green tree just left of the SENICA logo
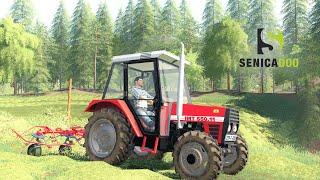
M 235 71 L 239 59 L 248 49 L 246 33 L 238 22 L 227 18 L 207 31 L 204 43 L 200 53 L 204 74 L 214 81 L 226 74 L 230 90 L 231 72 Z

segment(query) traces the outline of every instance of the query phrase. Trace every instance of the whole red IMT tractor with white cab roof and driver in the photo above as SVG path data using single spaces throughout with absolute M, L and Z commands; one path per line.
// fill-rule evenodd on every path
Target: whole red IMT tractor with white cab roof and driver
M 101 100 L 85 126 L 90 160 L 112 165 L 137 155 L 173 152 L 181 178 L 234 175 L 247 163 L 246 141 L 237 134 L 239 111 L 191 104 L 184 80 L 184 55 L 166 51 L 112 58 Z

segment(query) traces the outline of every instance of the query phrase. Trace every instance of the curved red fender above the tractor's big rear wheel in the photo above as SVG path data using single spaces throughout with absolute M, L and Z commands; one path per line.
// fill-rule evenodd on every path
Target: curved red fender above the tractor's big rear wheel
M 134 118 L 132 112 L 130 111 L 128 105 L 124 100 L 119 100 L 119 99 L 92 100 L 87 106 L 87 108 L 85 109 L 85 112 L 95 112 L 110 105 L 115 106 L 119 110 L 121 110 L 121 112 L 129 122 L 130 126 L 132 127 L 133 133 L 137 137 L 143 137 L 136 119 Z

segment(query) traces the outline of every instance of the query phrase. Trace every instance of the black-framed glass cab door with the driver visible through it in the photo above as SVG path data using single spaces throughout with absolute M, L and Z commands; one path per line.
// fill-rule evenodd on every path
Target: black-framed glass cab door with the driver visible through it
M 158 129 L 157 72 L 153 60 L 128 62 L 125 68 L 126 101 L 145 132 L 155 133 Z

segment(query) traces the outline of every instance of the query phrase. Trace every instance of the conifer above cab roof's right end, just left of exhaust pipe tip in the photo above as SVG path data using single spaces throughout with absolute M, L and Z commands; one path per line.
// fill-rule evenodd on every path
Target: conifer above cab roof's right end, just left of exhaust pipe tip
M 180 17 L 178 9 L 173 0 L 167 0 L 161 12 L 161 35 L 162 44 L 160 47 L 168 51 L 177 52 L 180 49 L 178 41 L 180 29 Z

